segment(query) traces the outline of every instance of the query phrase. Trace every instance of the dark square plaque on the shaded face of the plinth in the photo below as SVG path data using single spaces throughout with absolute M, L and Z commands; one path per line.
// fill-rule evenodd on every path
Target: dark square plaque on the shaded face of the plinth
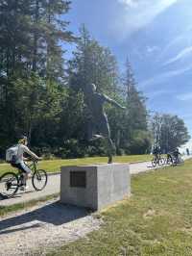
M 86 187 L 86 172 L 85 171 L 70 171 L 70 187 L 85 188 Z

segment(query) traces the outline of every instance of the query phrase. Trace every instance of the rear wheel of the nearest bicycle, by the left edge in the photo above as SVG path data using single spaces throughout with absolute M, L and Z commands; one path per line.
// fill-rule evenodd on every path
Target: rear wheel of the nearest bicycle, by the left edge
M 19 180 L 14 172 L 6 172 L 0 177 L 0 196 L 11 198 L 19 187 Z

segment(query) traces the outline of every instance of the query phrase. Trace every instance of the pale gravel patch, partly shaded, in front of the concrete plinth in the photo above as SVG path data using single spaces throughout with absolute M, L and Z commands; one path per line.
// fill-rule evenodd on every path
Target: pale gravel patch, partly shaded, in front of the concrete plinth
M 46 255 L 100 228 L 102 219 L 58 199 L 0 218 L 0 255 Z

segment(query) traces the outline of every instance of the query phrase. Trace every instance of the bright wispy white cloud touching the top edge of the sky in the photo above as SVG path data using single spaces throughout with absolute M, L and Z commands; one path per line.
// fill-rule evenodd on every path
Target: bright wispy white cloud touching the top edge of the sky
M 179 0 L 117 0 L 123 6 L 123 12 L 116 20 L 116 32 L 124 37 L 150 24 L 159 13 L 176 4 Z

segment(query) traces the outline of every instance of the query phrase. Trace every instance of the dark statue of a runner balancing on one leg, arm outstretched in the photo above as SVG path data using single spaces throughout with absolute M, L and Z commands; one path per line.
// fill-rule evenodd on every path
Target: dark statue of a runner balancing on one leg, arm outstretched
M 97 139 L 105 139 L 108 143 L 108 164 L 112 163 L 112 155 L 115 153 L 115 145 L 110 138 L 110 129 L 108 125 L 108 116 L 104 110 L 106 102 L 125 110 L 115 100 L 109 98 L 103 93 L 97 92 L 94 84 L 89 85 L 86 90 L 86 103 L 89 112 L 89 125 L 88 125 L 88 140 L 93 141 Z

